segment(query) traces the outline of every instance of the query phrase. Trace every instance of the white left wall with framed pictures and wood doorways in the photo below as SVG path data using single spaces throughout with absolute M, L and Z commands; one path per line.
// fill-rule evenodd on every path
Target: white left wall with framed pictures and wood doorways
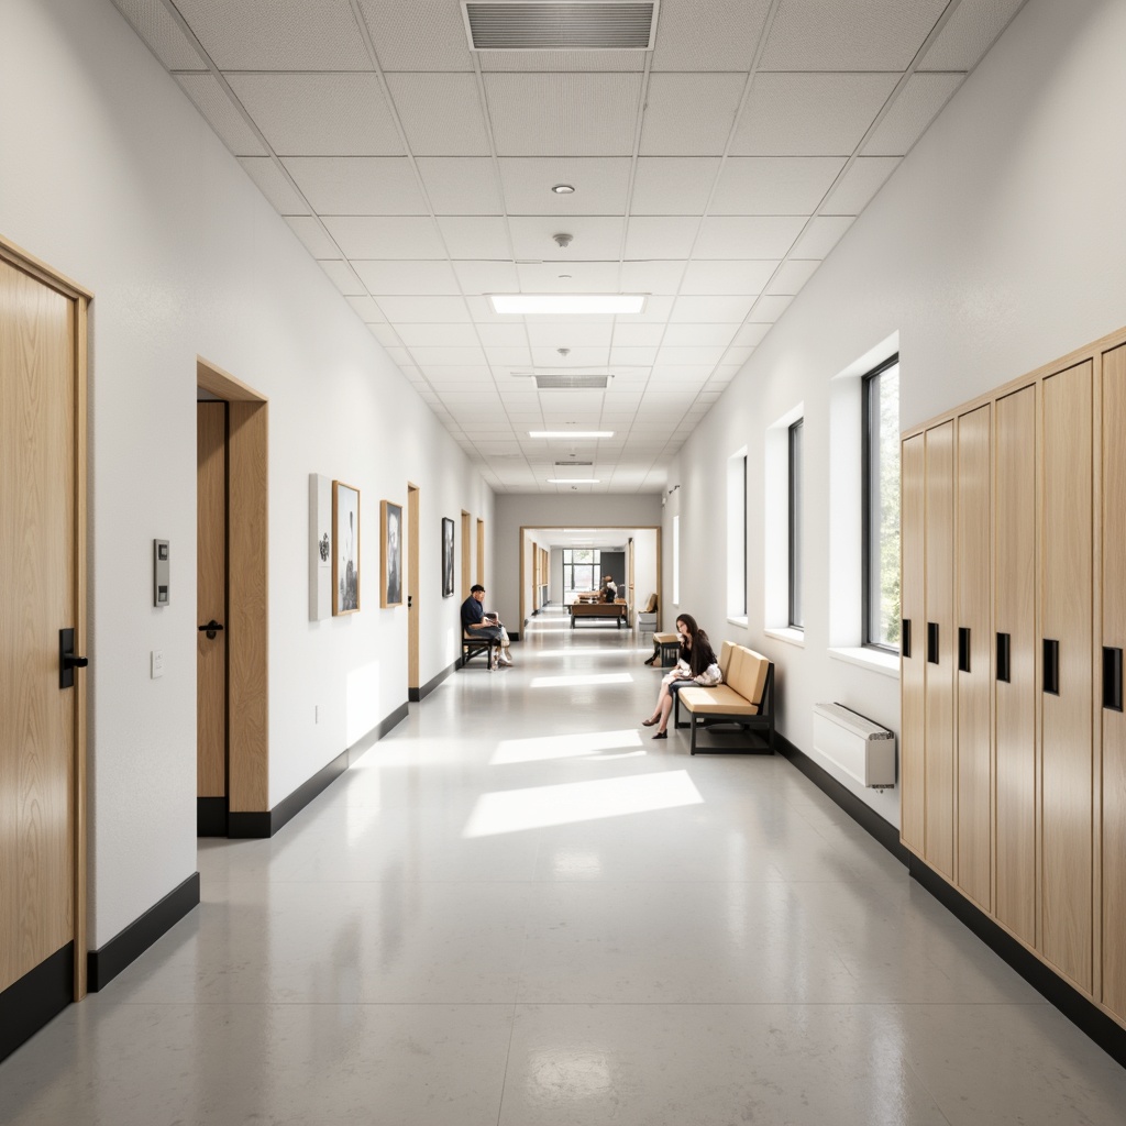
M 440 518 L 465 508 L 492 527 L 492 494 L 108 0 L 7 0 L 0 42 L 0 233 L 95 295 L 99 947 L 196 869 L 196 355 L 270 401 L 271 805 L 406 700 L 405 609 L 378 609 L 381 498 L 405 503 L 408 480 L 422 490 L 426 682 L 456 656 Z M 311 472 L 361 491 L 363 608 L 321 623 L 307 620 Z M 161 610 L 154 537 L 172 551 Z M 149 678 L 153 649 L 160 680 Z

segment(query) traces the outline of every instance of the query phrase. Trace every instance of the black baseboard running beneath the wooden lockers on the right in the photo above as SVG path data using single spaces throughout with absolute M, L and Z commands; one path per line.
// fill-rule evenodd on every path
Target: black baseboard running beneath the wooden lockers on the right
M 1002 930 L 978 906 L 932 868 L 909 854 L 911 878 L 930 892 L 959 922 L 968 927 L 998 957 L 1007 962 L 1049 1004 L 1089 1036 L 1115 1063 L 1126 1067 L 1126 1028 L 1049 969 L 1035 954 Z

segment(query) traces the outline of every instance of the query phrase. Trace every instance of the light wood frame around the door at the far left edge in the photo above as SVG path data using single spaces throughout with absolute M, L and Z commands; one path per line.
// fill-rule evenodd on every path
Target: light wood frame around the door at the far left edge
M 72 282 L 64 274 L 39 261 L 23 248 L 0 235 L 0 259 L 23 270 L 37 282 L 62 294 L 74 305 L 73 319 L 73 388 L 74 388 L 74 652 L 89 654 L 88 632 L 88 553 L 89 536 L 87 511 L 87 483 L 89 461 L 89 305 L 93 294 Z M 88 739 L 87 674 L 74 677 L 74 759 L 71 783 L 73 803 L 72 852 L 73 877 L 71 912 L 74 941 L 73 995 L 75 1001 L 86 997 L 87 972 L 87 739 Z

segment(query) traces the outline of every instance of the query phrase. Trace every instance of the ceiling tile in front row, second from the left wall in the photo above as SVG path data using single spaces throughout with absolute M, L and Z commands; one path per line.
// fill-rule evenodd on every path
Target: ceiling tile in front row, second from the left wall
M 220 70 L 370 70 L 348 0 L 176 0 Z

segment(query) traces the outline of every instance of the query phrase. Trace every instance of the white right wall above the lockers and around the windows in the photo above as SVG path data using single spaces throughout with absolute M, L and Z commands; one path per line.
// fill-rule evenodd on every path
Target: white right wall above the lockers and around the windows
M 897 332 L 905 428 L 1126 322 L 1124 42 L 1124 0 L 1030 0 L 681 450 L 665 529 L 679 511 L 682 608 L 718 634 L 724 506 L 713 493 L 727 457 L 749 447 L 749 623 L 726 623 L 723 634 L 776 661 L 779 727 L 802 750 L 812 750 L 817 700 L 841 700 L 896 731 L 900 721 L 896 677 L 828 652 L 859 643 L 858 610 L 841 606 L 835 586 L 830 598 L 839 566 L 858 573 L 859 522 L 858 508 L 842 516 L 835 499 L 830 506 L 831 480 L 859 472 L 855 437 L 834 431 L 848 396 L 831 381 Z M 763 635 L 765 560 L 776 543 L 765 542 L 761 513 L 785 488 L 766 480 L 763 439 L 797 403 L 804 645 Z M 858 492 L 843 503 L 858 504 Z M 847 546 L 830 536 L 831 517 L 854 529 Z M 665 564 L 670 593 L 670 542 Z M 858 599 L 858 583 L 849 586 Z M 859 793 L 899 823 L 897 792 Z

